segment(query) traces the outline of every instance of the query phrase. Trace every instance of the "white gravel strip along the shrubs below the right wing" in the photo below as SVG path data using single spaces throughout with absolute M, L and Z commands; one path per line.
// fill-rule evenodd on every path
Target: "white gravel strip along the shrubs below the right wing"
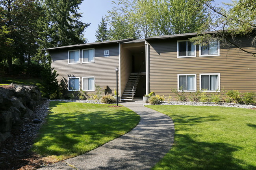
M 150 105 L 145 103 L 144 105 Z M 187 105 L 187 106 L 224 106 L 224 107 L 233 107 L 233 108 L 256 108 L 256 105 L 247 105 L 247 104 L 234 104 L 234 103 L 219 103 L 215 104 L 213 102 L 161 102 L 159 105 Z

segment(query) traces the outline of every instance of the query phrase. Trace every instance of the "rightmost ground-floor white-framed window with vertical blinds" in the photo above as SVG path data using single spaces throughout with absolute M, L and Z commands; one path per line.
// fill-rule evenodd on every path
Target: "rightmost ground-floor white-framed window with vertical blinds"
M 200 74 L 200 90 L 220 91 L 220 73 Z

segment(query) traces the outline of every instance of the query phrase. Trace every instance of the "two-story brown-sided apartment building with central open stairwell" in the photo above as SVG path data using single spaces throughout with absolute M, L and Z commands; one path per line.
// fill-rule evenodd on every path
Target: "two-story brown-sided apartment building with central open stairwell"
M 221 42 L 194 45 L 188 38 L 196 33 L 150 37 L 143 40 L 115 40 L 49 48 L 52 67 L 65 80 L 69 91 L 94 93 L 95 84 L 113 93 L 118 72 L 122 99 L 154 91 L 172 95 L 171 89 L 207 92 L 256 91 L 256 58 L 238 48 L 222 48 Z M 255 52 L 248 37 L 242 47 Z

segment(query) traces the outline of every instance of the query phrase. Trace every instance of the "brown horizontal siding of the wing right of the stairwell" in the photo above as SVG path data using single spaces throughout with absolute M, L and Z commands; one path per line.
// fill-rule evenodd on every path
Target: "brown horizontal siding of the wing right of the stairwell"
M 250 40 L 242 38 L 243 48 L 255 52 Z M 220 56 L 177 58 L 177 39 L 148 40 L 150 91 L 158 95 L 176 95 L 171 89 L 178 88 L 178 74 L 197 74 L 197 90 L 200 88 L 199 74 L 220 73 L 220 87 L 225 90 L 256 92 L 256 58 L 237 48 L 220 49 Z M 189 92 L 186 92 L 187 94 Z M 208 94 L 210 92 L 207 92 Z

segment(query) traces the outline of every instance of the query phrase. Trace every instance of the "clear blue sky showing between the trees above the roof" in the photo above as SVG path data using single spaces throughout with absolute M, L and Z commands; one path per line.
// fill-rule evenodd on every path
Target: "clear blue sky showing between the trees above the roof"
M 215 4 L 222 5 L 221 2 L 231 2 L 231 0 L 215 0 Z M 80 5 L 80 12 L 83 13 L 81 19 L 85 23 L 91 23 L 85 29 L 85 38 L 89 42 L 95 42 L 95 33 L 98 29 L 98 24 L 101 22 L 101 17 L 108 15 L 108 10 L 113 7 L 112 0 L 83 0 Z

